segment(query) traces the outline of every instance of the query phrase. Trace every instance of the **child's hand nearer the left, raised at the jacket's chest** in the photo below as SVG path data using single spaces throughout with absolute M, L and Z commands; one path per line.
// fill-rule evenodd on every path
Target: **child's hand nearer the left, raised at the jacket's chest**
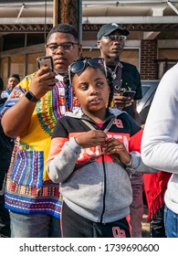
M 92 147 L 104 144 L 106 141 L 107 134 L 100 130 L 91 130 L 87 133 L 80 134 L 75 137 L 76 142 L 84 147 Z

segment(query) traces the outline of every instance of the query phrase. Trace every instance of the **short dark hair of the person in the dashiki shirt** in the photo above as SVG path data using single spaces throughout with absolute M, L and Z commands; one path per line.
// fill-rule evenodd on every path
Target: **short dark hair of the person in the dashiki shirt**
M 60 23 L 57 26 L 52 27 L 48 32 L 47 40 L 54 33 L 67 33 L 72 35 L 76 40 L 79 40 L 79 34 L 77 30 L 68 23 Z

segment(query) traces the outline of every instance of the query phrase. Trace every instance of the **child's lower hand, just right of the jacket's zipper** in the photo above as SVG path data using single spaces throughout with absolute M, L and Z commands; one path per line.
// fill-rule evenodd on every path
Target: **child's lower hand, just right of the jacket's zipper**
M 114 138 L 110 138 L 106 141 L 104 153 L 117 157 L 124 165 L 131 161 L 131 156 L 125 145 Z

